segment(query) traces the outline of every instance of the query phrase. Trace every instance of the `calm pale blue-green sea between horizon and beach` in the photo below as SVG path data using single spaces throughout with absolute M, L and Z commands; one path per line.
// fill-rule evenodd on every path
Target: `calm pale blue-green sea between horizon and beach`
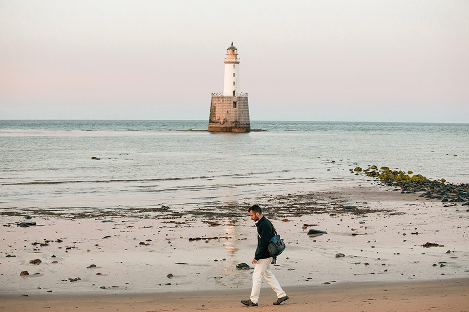
M 469 124 L 0 120 L 0 209 L 193 208 L 369 180 L 387 166 L 469 183 Z M 254 203 L 254 202 L 253 202 Z

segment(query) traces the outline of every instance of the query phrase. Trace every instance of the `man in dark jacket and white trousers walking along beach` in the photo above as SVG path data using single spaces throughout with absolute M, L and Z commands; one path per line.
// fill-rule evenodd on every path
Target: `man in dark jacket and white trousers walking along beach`
M 270 268 L 272 256 L 267 251 L 267 246 L 270 239 L 275 235 L 274 226 L 272 225 L 272 222 L 262 215 L 262 210 L 257 205 L 249 208 L 249 215 L 254 222 L 257 222 L 257 248 L 253 259 L 253 264 L 256 266 L 254 267 L 253 273 L 253 289 L 251 291 L 251 297 L 248 300 L 241 300 L 241 303 L 246 306 L 257 306 L 260 284 L 262 282 L 262 276 L 264 276 L 267 283 L 269 283 L 270 287 L 272 287 L 274 292 L 277 294 L 277 301 L 274 302 L 274 304 L 277 305 L 287 300 L 288 296 L 280 287 L 277 278 L 275 278 L 274 273 L 272 273 L 272 269 Z

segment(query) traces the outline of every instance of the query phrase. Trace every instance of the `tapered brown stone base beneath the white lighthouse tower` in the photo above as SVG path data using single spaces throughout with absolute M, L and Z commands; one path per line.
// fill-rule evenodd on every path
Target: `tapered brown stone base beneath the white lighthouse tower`
M 209 131 L 251 131 L 248 97 L 212 97 Z

